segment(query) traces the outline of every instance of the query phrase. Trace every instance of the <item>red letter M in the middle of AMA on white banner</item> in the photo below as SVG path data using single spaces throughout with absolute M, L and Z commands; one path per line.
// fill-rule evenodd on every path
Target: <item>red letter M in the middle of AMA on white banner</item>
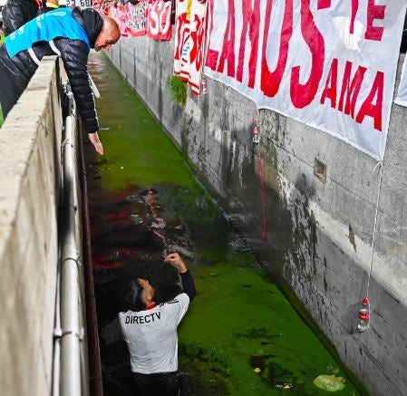
M 359 66 L 354 73 L 354 78 L 351 82 L 352 62 L 346 61 L 344 66 L 344 80 L 342 82 L 341 96 L 339 98 L 338 110 L 344 111 L 345 114 L 350 114 L 354 118 L 354 107 L 356 105 L 357 96 L 361 91 L 363 75 L 366 68 Z M 346 101 L 344 104 L 344 96 Z

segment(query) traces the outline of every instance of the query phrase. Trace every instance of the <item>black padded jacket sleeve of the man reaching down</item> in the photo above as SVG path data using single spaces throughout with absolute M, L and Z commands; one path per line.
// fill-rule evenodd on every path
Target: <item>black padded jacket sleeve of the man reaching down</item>
M 55 46 L 61 52 L 63 65 L 73 90 L 83 128 L 87 133 L 99 130 L 99 122 L 94 106 L 94 98 L 89 81 L 88 54 L 86 43 L 81 40 L 60 38 L 54 40 Z

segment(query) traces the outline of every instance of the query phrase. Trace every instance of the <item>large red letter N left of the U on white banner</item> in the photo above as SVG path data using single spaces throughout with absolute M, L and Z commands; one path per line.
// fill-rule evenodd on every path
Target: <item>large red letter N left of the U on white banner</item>
M 240 48 L 238 52 L 237 63 L 237 81 L 243 80 L 243 64 L 245 63 L 245 50 L 246 50 L 246 36 L 247 28 L 250 24 L 249 39 L 251 43 L 250 58 L 248 60 L 248 84 L 247 86 L 253 88 L 256 80 L 256 67 L 257 67 L 257 49 L 258 49 L 258 28 L 260 26 L 260 0 L 254 0 L 253 7 L 251 6 L 252 0 L 243 0 L 243 26 L 242 35 L 240 37 Z

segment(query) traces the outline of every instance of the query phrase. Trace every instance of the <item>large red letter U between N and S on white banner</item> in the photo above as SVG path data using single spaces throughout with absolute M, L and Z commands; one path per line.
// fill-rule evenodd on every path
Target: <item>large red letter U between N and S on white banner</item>
M 260 89 L 268 97 L 276 96 L 280 83 L 286 70 L 286 60 L 288 57 L 289 41 L 293 35 L 293 0 L 286 0 L 283 25 L 280 35 L 280 48 L 278 50 L 278 60 L 274 72 L 270 72 L 267 65 L 266 49 L 268 31 L 270 29 L 273 0 L 267 0 L 265 32 L 263 35 L 263 48 L 261 54 L 261 82 Z

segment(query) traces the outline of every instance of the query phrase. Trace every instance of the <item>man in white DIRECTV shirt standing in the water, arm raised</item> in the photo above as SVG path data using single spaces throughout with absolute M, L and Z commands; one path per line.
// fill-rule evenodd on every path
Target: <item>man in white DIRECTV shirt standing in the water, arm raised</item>
M 187 313 L 196 289 L 192 275 L 178 253 L 166 256 L 165 261 L 178 268 L 183 293 L 170 302 L 157 305 L 154 287 L 147 279 L 138 279 L 131 283 L 126 294 L 131 310 L 119 314 L 121 335 L 129 348 L 138 396 L 179 394 L 177 327 Z M 106 341 L 103 331 L 102 337 Z

